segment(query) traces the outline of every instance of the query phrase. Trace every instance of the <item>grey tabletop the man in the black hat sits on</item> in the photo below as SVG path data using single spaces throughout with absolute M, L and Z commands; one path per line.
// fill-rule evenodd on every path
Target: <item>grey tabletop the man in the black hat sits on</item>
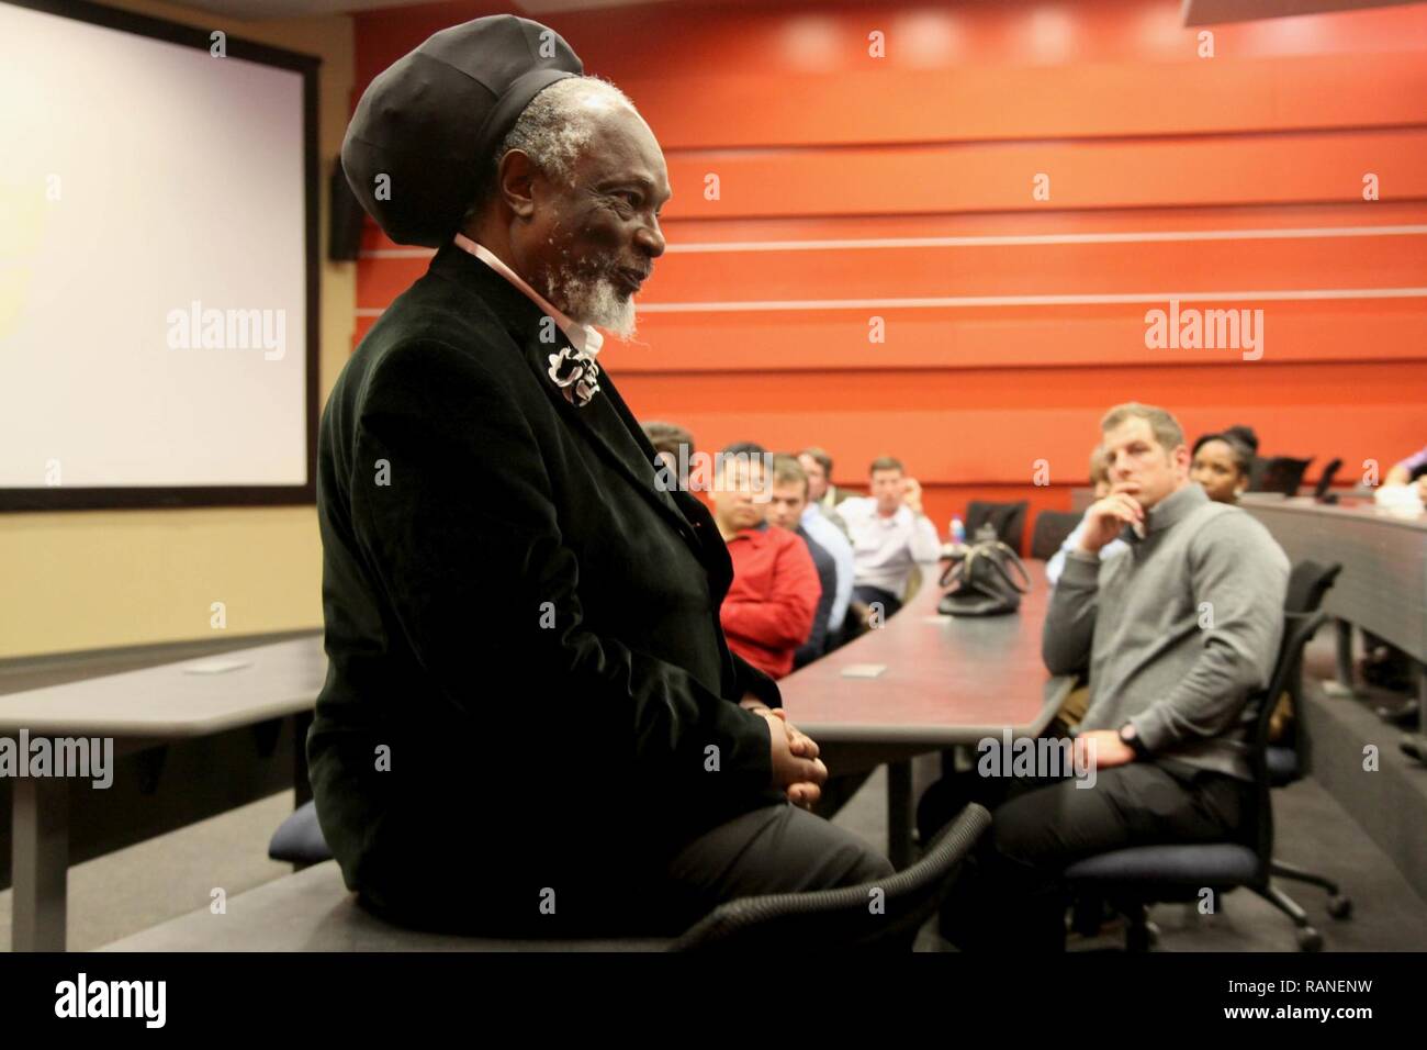
M 357 904 L 335 861 L 284 876 L 103 951 L 662 951 L 672 939 L 504 940 L 404 930 Z

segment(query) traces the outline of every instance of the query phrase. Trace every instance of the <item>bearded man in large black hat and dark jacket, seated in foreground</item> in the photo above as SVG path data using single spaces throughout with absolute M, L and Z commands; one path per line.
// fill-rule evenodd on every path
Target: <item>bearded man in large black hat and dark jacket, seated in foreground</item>
M 440 250 L 323 416 L 323 831 L 374 909 L 487 933 L 672 931 L 733 896 L 880 879 L 882 857 L 801 809 L 826 769 L 725 644 L 718 529 L 656 484 L 596 363 L 592 326 L 631 330 L 664 251 L 668 176 L 628 100 L 559 37 L 537 49 L 547 34 L 511 16 L 445 30 L 348 130 L 372 216 Z M 442 97 L 432 56 L 478 67 L 455 93 L 492 53 L 494 104 L 400 111 Z M 458 150 L 430 139 L 471 121 L 495 147 L 462 186 L 431 160 Z

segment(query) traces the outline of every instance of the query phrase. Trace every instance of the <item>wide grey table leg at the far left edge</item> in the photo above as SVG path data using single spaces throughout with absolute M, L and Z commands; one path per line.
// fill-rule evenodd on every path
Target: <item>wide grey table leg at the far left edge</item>
M 16 777 L 10 947 L 64 951 L 70 870 L 70 781 Z

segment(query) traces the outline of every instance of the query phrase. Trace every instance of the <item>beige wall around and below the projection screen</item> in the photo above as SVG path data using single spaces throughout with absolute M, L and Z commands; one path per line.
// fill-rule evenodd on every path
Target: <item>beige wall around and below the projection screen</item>
M 341 150 L 352 90 L 351 19 L 245 23 L 144 0 L 106 1 L 321 57 L 325 254 L 327 177 Z M 351 350 L 355 287 L 354 263 L 321 264 L 324 401 Z M 321 626 L 314 509 L 0 514 L 0 659 L 213 637 L 214 601 L 224 603 L 228 636 Z

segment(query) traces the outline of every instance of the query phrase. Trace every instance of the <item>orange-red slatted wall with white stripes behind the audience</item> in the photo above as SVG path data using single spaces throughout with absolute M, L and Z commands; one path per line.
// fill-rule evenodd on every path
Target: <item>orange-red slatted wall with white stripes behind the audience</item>
M 852 486 L 896 454 L 942 529 L 968 499 L 1069 507 L 1100 413 L 1130 399 L 1190 436 L 1249 423 L 1267 454 L 1386 471 L 1427 443 L 1427 6 L 1212 27 L 1213 57 L 1179 9 L 551 16 L 641 107 L 675 194 L 639 334 L 601 361 L 641 417 L 708 450 L 822 444 Z M 437 29 L 501 10 L 355 16 L 358 93 Z M 873 30 L 886 57 L 869 56 Z M 1266 229 L 1294 233 L 1243 233 Z M 1133 237 L 1153 231 L 1200 236 Z M 985 240 L 1007 237 L 1050 241 Z M 826 240 L 856 244 L 786 246 Z M 358 337 L 425 267 L 391 247 L 370 226 Z M 1196 293 L 1214 297 L 1183 306 L 1261 309 L 1263 359 L 1146 349 L 1144 311 Z M 1047 301 L 1066 296 L 1089 301 Z M 885 343 L 868 340 L 873 316 Z

